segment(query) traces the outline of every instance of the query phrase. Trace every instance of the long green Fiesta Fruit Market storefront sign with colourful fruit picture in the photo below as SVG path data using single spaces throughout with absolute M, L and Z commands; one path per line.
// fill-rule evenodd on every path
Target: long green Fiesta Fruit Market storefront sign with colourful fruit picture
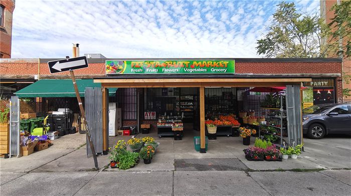
M 234 60 L 106 61 L 106 74 L 234 74 Z

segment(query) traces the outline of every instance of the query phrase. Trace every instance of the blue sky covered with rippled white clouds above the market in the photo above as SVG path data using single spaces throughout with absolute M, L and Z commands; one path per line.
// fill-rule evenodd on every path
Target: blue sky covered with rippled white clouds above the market
M 319 12 L 319 0 L 294 1 Z M 12 58 L 257 58 L 278 1 L 16 1 Z

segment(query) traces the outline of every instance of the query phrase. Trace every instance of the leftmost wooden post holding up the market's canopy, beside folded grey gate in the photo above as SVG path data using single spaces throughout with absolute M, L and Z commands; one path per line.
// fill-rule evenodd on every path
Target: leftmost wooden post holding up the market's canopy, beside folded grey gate
M 106 88 L 102 87 L 102 150 L 103 154 L 108 153 L 108 128 L 107 128 L 107 113 L 108 113 L 108 106 L 107 106 L 107 90 Z

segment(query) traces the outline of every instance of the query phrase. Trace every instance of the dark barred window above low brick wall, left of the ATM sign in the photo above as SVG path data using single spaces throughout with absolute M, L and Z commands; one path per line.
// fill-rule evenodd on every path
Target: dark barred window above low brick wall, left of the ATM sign
M 117 100 L 122 110 L 122 120 L 136 120 L 136 88 L 119 88 Z

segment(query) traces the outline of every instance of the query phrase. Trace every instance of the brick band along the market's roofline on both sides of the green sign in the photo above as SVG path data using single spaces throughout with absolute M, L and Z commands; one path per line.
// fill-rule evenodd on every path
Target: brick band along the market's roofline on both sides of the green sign
M 36 62 L 35 62 L 36 61 Z M 26 59 L 19 60 L 18 63 L 0 63 L 2 75 L 35 75 L 38 74 L 38 60 L 32 59 L 30 63 Z M 236 73 L 253 74 L 313 74 L 313 73 L 341 73 L 340 62 L 327 63 L 304 63 L 304 62 L 238 62 L 235 64 Z M 104 75 L 105 64 L 89 63 L 89 68 L 76 70 L 76 75 Z M 40 75 L 51 75 L 47 63 L 40 64 Z M 68 75 L 59 73 L 55 75 Z

